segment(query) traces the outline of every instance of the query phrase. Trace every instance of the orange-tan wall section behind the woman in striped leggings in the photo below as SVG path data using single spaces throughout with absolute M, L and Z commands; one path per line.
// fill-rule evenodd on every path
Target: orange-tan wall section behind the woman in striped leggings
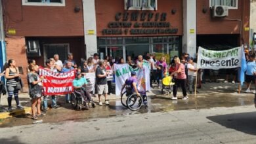
M 26 43 L 24 37 L 12 37 L 7 38 L 7 60 L 14 59 L 16 66 L 22 66 L 24 75 L 22 75 L 22 81 L 24 82 L 24 91 L 28 90 L 28 81 L 26 79 L 27 71 L 27 58 L 26 58 Z

